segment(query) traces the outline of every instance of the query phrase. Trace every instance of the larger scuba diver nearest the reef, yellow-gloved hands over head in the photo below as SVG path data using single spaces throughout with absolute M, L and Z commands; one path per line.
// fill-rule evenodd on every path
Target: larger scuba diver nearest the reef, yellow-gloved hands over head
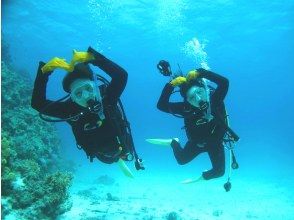
M 94 74 L 89 64 L 107 73 L 111 82 Z M 62 85 L 69 95 L 51 101 L 46 98 L 46 87 L 49 76 L 56 68 L 67 71 Z M 58 57 L 48 63 L 39 63 L 31 105 L 46 121 L 69 123 L 77 147 L 86 152 L 91 162 L 94 158 L 107 164 L 119 162 L 120 166 L 124 166 L 123 171 L 131 176 L 124 161 L 135 158 L 136 169 L 144 167 L 136 153 L 130 125 L 120 101 L 127 78 L 123 68 L 92 47 L 87 52 L 74 50 L 70 63 Z M 101 85 L 98 82 L 102 82 Z

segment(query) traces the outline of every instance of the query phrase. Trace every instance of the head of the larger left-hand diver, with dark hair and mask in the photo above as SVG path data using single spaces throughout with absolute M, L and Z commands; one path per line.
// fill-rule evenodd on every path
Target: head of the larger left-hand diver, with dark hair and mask
M 63 79 L 64 91 L 80 106 L 88 107 L 93 101 L 101 102 L 100 90 L 93 81 L 93 72 L 89 65 L 79 63 Z

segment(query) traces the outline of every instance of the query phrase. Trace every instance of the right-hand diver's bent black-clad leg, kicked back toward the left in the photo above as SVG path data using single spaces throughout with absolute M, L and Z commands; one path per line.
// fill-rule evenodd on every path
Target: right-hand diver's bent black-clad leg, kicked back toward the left
M 204 152 L 204 148 L 198 147 L 196 142 L 188 141 L 184 148 L 179 142 L 173 140 L 171 143 L 178 164 L 183 165 L 193 160 L 198 154 Z

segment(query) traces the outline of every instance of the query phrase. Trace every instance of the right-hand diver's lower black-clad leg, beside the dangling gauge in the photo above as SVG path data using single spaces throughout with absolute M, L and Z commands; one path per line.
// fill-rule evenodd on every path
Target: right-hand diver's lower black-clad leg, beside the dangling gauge
M 207 152 L 212 164 L 212 169 L 203 172 L 203 178 L 209 180 L 223 176 L 225 173 L 225 152 L 222 142 L 217 141 L 209 143 Z

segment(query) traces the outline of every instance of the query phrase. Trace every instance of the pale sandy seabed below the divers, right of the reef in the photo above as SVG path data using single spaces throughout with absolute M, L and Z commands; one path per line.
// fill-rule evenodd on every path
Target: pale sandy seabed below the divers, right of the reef
M 184 185 L 187 173 L 140 171 L 134 179 L 106 173 L 80 167 L 71 188 L 73 206 L 59 219 L 294 219 L 293 177 L 235 175 L 225 192 L 226 177 Z

